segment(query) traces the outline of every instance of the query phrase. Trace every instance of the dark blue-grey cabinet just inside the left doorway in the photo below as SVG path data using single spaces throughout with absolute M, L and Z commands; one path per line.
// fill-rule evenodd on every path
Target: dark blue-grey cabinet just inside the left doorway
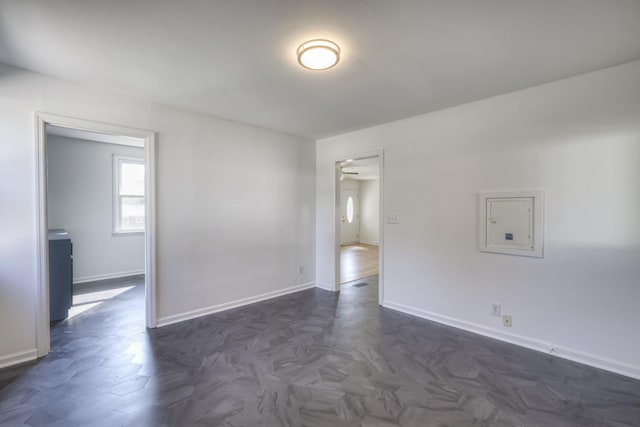
M 73 245 L 65 230 L 49 230 L 49 320 L 69 317 L 73 299 Z

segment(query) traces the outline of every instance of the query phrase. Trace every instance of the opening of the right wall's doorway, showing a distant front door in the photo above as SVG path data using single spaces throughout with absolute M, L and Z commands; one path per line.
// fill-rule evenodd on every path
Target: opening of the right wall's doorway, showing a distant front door
M 340 286 L 376 286 L 380 273 L 380 156 L 337 164 Z M 369 283 L 370 282 L 370 283 Z

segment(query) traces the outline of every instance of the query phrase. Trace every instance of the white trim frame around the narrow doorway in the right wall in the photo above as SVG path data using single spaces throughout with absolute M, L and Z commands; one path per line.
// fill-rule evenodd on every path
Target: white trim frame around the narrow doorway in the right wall
M 333 211 L 334 211 L 334 236 L 333 236 L 333 248 L 334 248 L 334 292 L 340 291 L 340 198 L 342 196 L 340 191 L 340 165 L 347 160 L 358 160 L 377 157 L 380 162 L 380 225 L 379 225 L 379 240 L 378 240 L 378 304 L 382 305 L 384 301 L 384 150 L 370 151 L 366 153 L 353 154 L 350 156 L 342 156 L 334 163 L 334 176 L 333 176 Z

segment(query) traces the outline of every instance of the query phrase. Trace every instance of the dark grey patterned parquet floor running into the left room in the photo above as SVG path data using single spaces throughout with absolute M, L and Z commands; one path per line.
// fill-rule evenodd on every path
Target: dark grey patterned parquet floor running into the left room
M 380 308 L 366 281 L 156 330 L 137 283 L 0 371 L 0 425 L 640 426 L 640 381 Z

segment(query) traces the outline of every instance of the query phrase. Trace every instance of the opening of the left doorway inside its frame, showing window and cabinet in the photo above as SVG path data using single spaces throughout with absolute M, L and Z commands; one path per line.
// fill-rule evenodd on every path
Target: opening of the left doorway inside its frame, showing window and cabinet
M 144 141 L 46 133 L 50 322 L 135 299 L 144 324 Z

